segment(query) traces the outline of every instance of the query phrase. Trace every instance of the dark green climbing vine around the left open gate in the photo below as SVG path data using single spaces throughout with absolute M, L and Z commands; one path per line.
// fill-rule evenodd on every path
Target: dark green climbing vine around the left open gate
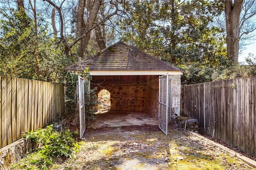
M 91 121 L 95 120 L 94 113 L 97 105 L 96 88 L 90 89 L 90 80 L 92 76 L 89 74 L 88 69 L 84 71 L 68 72 L 66 76 L 66 112 L 69 117 L 75 117 L 77 113 L 77 97 L 76 97 L 76 81 L 78 75 L 84 77 L 84 113 L 85 123 L 88 125 Z

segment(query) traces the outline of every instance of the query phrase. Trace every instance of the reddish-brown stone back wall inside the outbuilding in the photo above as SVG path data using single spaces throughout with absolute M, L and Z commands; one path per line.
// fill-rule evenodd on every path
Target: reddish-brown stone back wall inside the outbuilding
M 145 110 L 145 83 L 104 83 L 98 86 L 96 94 L 102 89 L 110 92 L 110 111 Z

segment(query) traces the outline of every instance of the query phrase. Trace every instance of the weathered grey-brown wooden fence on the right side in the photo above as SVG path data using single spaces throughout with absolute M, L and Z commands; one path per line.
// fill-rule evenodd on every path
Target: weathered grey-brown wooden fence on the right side
M 184 85 L 182 101 L 202 134 L 256 156 L 256 77 Z

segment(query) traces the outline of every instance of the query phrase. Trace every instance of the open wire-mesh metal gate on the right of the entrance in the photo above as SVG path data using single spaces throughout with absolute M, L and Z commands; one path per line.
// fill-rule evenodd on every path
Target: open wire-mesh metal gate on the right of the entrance
M 171 92 L 172 81 L 168 73 L 163 76 L 159 76 L 159 109 L 158 109 L 158 121 L 159 128 L 167 135 L 168 123 L 171 118 Z

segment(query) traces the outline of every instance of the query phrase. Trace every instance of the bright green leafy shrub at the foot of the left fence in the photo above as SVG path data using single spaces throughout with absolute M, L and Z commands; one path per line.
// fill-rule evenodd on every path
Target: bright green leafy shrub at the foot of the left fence
M 38 150 L 32 150 L 22 164 L 14 164 L 12 168 L 48 169 L 56 158 L 73 158 L 79 148 L 79 143 L 73 139 L 78 132 L 71 133 L 68 129 L 57 132 L 53 125 L 44 129 L 38 129 L 35 132 L 26 132 L 24 137 L 31 142 L 41 144 Z

